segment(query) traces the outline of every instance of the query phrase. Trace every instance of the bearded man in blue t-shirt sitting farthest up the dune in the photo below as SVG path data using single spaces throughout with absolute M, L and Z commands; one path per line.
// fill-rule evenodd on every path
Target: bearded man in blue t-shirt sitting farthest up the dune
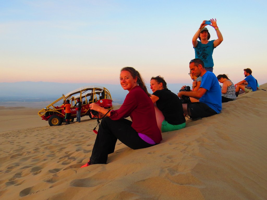
M 246 78 L 243 81 L 240 81 L 234 85 L 236 96 L 238 96 L 238 94 L 242 94 L 244 92 L 248 93 L 248 92 L 252 92 L 252 91 L 257 90 L 257 81 L 251 74 L 252 74 L 251 69 L 249 69 L 249 68 L 244 69 L 244 75 Z M 240 90 L 243 90 L 243 92 L 241 92 Z

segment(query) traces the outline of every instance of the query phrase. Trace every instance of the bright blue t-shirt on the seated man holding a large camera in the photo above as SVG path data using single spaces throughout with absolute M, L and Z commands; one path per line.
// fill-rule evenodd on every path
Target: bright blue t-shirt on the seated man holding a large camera
M 206 89 L 206 93 L 199 99 L 199 102 L 206 103 L 217 113 L 222 110 L 222 93 L 217 77 L 210 71 L 202 76 L 200 87 Z

